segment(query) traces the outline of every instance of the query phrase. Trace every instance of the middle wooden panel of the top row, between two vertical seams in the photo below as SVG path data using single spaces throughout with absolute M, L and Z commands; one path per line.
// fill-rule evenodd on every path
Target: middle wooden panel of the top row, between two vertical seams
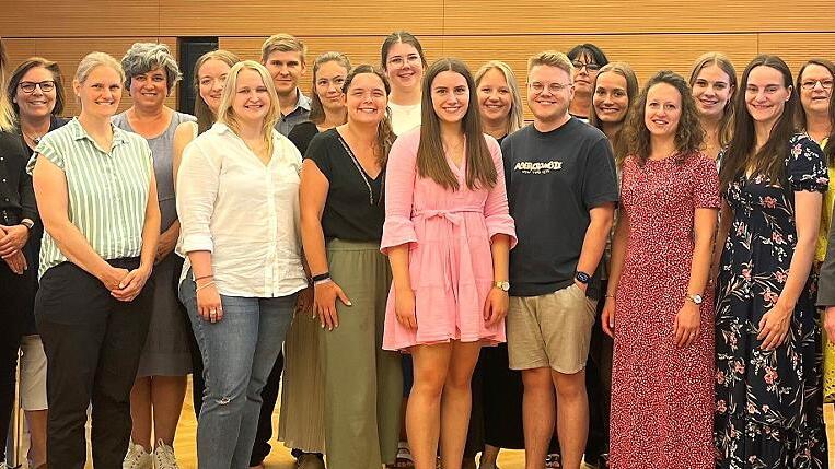
M 160 34 L 178 36 L 441 34 L 443 0 L 166 1 Z

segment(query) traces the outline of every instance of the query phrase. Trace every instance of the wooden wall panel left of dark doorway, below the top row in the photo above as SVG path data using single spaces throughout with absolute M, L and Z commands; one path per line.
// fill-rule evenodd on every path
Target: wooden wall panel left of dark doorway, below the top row
M 65 116 L 74 116 L 79 113 L 79 107 L 72 94 L 72 78 L 76 74 L 76 69 L 81 59 L 85 55 L 98 50 L 112 55 L 116 60 L 121 60 L 121 57 L 125 55 L 125 51 L 128 50 L 130 45 L 138 42 L 160 42 L 167 44 L 174 57 L 177 57 L 176 37 L 3 39 L 3 44 L 9 54 L 9 63 L 11 65 L 10 73 L 14 67 L 32 56 L 45 57 L 58 63 L 61 73 L 63 74 L 63 89 L 66 93 Z M 173 108 L 176 108 L 176 93 L 177 87 L 175 87 L 172 95 L 165 99 L 165 104 Z M 130 107 L 132 99 L 128 96 L 127 90 L 125 90 L 119 105 L 119 112 Z

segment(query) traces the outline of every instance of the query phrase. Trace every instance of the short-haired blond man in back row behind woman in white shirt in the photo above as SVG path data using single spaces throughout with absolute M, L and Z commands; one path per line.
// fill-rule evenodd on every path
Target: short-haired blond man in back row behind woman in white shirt
M 310 98 L 299 90 L 299 79 L 308 70 L 304 55 L 308 47 L 289 34 L 270 36 L 260 46 L 260 62 L 269 70 L 278 93 L 281 118 L 276 130 L 288 136 L 297 124 L 308 120 Z

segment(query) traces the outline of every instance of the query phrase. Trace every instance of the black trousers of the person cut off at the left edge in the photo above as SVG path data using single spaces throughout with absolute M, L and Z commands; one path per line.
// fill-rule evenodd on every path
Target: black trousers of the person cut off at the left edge
M 30 268 L 19 275 L 0 260 L 0 462 L 5 460 L 5 441 L 14 407 L 14 383 L 18 370 L 18 350 L 21 336 L 32 316 L 36 272 L 32 259 Z

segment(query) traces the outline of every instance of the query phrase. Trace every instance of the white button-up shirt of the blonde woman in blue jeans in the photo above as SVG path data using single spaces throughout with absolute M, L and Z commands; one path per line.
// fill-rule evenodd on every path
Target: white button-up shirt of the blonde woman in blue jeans
M 299 224 L 302 156 L 276 130 L 272 145 L 265 166 L 232 129 L 214 124 L 183 151 L 182 248 L 211 251 L 222 295 L 276 297 L 308 286 Z M 189 268 L 186 260 L 183 277 Z

